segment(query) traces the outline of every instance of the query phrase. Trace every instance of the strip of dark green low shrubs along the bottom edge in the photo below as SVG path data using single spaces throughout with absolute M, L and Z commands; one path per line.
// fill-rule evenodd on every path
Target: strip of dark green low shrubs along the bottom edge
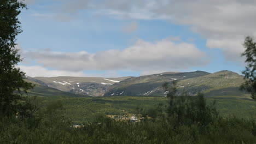
M 117 122 L 99 116 L 80 128 L 60 119 L 42 118 L 39 122 L 0 119 L 0 143 L 255 143 L 255 121 L 218 118 L 199 124 L 176 125 L 174 122 Z M 29 127 L 27 123 L 38 123 Z

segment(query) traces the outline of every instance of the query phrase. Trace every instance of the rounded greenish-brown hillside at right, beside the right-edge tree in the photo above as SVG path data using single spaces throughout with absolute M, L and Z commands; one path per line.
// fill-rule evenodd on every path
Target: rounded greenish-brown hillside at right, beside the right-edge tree
M 204 92 L 207 97 L 218 95 L 243 95 L 239 91 L 243 83 L 243 76 L 232 71 L 223 70 L 217 73 L 195 77 L 193 79 L 178 82 L 181 91 L 195 95 L 197 92 Z

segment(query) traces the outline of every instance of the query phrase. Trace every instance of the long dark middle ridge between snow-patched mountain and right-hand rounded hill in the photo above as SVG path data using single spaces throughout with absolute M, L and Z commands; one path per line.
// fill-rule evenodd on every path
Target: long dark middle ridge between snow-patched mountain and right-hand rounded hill
M 164 96 L 162 84 L 173 80 L 186 80 L 194 77 L 209 75 L 205 71 L 193 71 L 188 73 L 161 73 L 154 75 L 130 77 L 110 86 L 105 96 L 113 95 L 159 95 Z

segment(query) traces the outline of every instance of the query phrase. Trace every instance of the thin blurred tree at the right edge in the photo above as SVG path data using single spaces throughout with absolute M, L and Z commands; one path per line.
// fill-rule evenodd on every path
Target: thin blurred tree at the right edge
M 251 97 L 256 99 L 256 43 L 252 37 L 246 37 L 243 43 L 245 52 L 241 56 L 246 57 L 246 69 L 242 71 L 245 75 L 245 83 L 241 85 L 241 90 L 251 93 Z

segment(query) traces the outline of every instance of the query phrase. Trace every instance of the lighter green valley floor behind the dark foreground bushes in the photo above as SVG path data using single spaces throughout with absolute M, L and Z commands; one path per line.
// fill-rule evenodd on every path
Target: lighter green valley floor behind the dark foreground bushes
M 92 121 L 98 115 L 124 115 L 136 113 L 136 109 L 148 110 L 159 103 L 166 104 L 166 97 L 38 97 L 43 105 L 59 100 L 64 107 L 64 117 L 74 123 Z M 216 101 L 221 116 L 256 118 L 256 101 L 246 97 L 219 96 L 206 98 L 207 103 Z M 125 112 L 124 112 L 125 111 Z

